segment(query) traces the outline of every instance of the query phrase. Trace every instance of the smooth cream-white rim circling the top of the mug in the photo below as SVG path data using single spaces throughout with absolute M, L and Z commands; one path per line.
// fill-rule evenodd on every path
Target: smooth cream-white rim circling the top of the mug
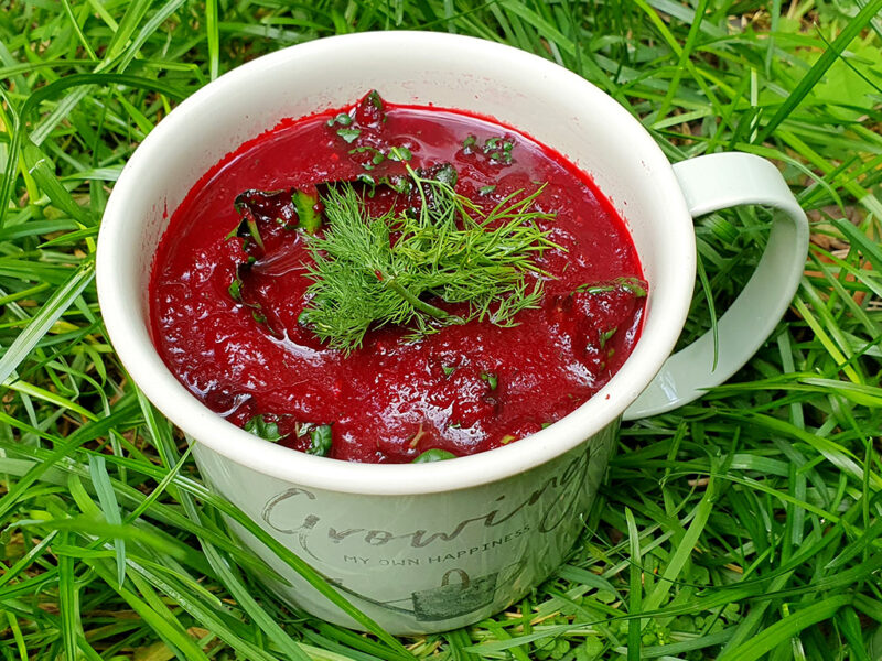
M 601 390 L 545 430 L 502 447 L 447 462 L 359 464 L 306 455 L 259 438 L 211 411 L 165 367 L 152 342 L 144 346 L 139 337 L 142 335 L 139 333 L 140 319 L 133 319 L 125 313 L 127 299 L 130 303 L 132 296 L 141 294 L 125 291 L 115 278 L 115 264 L 131 259 L 119 250 L 128 223 L 126 197 L 130 189 L 139 185 L 139 180 L 155 166 L 157 159 L 162 155 L 163 142 L 174 140 L 179 124 L 189 117 L 209 112 L 209 104 L 218 93 L 240 88 L 250 76 L 267 72 L 292 57 L 314 56 L 342 45 L 396 50 L 427 46 L 466 48 L 474 51 L 475 56 L 480 53 L 481 57 L 504 61 L 507 67 L 539 73 L 548 79 L 549 87 L 568 89 L 568 86 L 582 86 L 582 90 L 593 95 L 592 102 L 602 104 L 604 111 L 616 118 L 615 130 L 626 131 L 628 139 L 641 145 L 639 154 L 634 158 L 650 162 L 662 195 L 667 196 L 667 216 L 681 219 L 680 224 L 671 224 L 671 231 L 676 234 L 675 225 L 680 229 L 688 228 L 688 232 L 680 231 L 681 236 L 677 238 L 678 245 L 684 248 L 682 254 L 671 258 L 679 260 L 677 273 L 673 275 L 678 286 L 673 289 L 677 289 L 680 295 L 670 296 L 674 300 L 666 310 L 655 312 L 669 316 L 670 322 L 652 338 L 642 334 L 631 356 Z M 520 127 L 516 128 L 520 130 Z M 529 130 L 524 132 L 529 136 Z M 263 55 L 232 69 L 182 101 L 137 148 L 114 186 L 98 235 L 96 268 L 101 315 L 120 361 L 138 388 L 184 431 L 190 441 L 201 443 L 261 474 L 302 486 L 362 495 L 421 495 L 485 485 L 527 472 L 572 449 L 607 425 L 617 423 L 627 405 L 662 368 L 679 337 L 695 279 L 695 235 L 682 192 L 660 148 L 639 121 L 584 78 L 537 55 L 476 37 L 420 31 L 363 32 L 319 39 Z M 652 314 L 653 299 L 650 289 L 644 326 Z M 635 356 L 638 360 L 635 360 Z

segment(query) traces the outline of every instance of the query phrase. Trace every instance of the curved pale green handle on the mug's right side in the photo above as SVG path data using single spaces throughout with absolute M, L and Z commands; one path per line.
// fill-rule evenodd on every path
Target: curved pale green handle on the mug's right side
M 707 332 L 670 356 L 625 410 L 624 420 L 665 413 L 698 399 L 735 373 L 762 346 L 790 304 L 808 253 L 808 220 L 784 177 L 765 159 L 727 152 L 674 165 L 692 217 L 762 204 L 776 209 L 765 252 L 741 294 L 717 324 L 719 354 Z

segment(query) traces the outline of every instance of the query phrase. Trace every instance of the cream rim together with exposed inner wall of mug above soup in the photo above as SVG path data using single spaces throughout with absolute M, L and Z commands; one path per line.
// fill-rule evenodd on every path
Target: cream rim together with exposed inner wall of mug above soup
M 455 460 L 361 465 L 269 444 L 211 412 L 165 368 L 149 333 L 153 256 L 174 209 L 227 153 L 298 118 L 376 88 L 394 104 L 467 110 L 517 128 L 585 171 L 624 218 L 649 297 L 642 336 L 591 400 L 548 429 Z M 617 419 L 670 354 L 695 277 L 691 218 L 652 138 L 577 75 L 508 46 L 441 33 L 330 37 L 256 59 L 181 104 L 138 148 L 114 188 L 98 241 L 98 293 L 110 338 L 148 398 L 196 441 L 297 484 L 364 494 L 465 488 L 527 470 Z

